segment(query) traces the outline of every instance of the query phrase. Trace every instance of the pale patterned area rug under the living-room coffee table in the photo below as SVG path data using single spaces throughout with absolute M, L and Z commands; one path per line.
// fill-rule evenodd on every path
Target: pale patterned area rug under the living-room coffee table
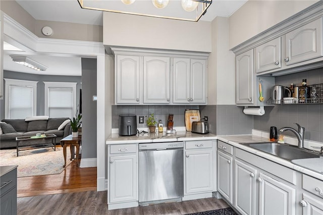
M 71 153 L 66 150 L 66 166 L 71 164 Z M 49 148 L 38 148 L 19 151 L 16 149 L 0 150 L 0 166 L 18 165 L 18 177 L 60 174 L 65 168 L 63 148 L 57 147 L 54 151 Z

